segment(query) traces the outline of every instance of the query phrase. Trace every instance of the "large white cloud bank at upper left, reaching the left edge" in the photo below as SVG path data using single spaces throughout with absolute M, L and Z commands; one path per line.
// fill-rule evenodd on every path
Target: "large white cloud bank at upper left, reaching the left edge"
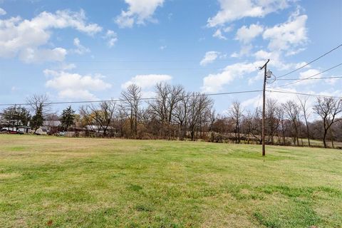
M 31 20 L 20 17 L 0 20 L 0 57 L 13 58 L 17 55 L 28 62 L 44 61 L 41 53 L 48 51 L 53 58 L 48 61 L 63 61 L 66 52 L 63 48 L 42 48 L 48 44 L 53 28 L 74 28 L 77 31 L 93 35 L 102 30 L 97 24 L 87 24 L 83 10 L 72 12 L 68 10 L 56 13 L 42 12 Z M 65 50 L 65 49 L 63 49 Z M 38 56 L 33 56 L 38 55 Z

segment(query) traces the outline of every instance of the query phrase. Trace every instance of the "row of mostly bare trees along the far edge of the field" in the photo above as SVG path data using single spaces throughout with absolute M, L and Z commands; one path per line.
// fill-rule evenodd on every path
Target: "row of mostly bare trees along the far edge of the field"
M 90 103 L 78 114 L 69 106 L 61 115 L 51 112 L 46 95 L 26 100 L 28 108 L 11 106 L 2 110 L 0 125 L 14 127 L 28 122 L 33 131 L 43 120 L 60 120 L 60 130 L 78 130 L 86 136 L 132 139 L 207 140 L 210 142 L 261 143 L 261 109 L 245 110 L 234 101 L 227 113 L 218 115 L 214 100 L 204 93 L 188 92 L 168 83 L 155 85 L 155 98 L 142 98 L 142 90 L 132 84 L 119 100 Z M 266 143 L 309 146 L 310 140 L 342 141 L 342 100 L 318 97 L 312 107 L 308 98 L 279 103 L 266 100 Z M 316 115 L 313 120 L 312 115 Z M 305 142 L 305 143 L 306 143 Z

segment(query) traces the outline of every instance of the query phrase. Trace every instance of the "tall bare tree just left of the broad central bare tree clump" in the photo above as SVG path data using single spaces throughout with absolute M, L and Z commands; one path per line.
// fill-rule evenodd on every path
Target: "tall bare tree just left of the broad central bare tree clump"
M 130 135 L 136 138 L 138 135 L 138 113 L 141 101 L 141 88 L 135 84 L 128 86 L 125 91 L 121 92 L 121 99 L 123 101 L 120 104 L 120 107 L 130 120 Z

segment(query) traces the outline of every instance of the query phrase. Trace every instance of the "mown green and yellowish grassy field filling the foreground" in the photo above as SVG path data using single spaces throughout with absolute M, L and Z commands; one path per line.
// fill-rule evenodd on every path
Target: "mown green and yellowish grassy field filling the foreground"
M 0 135 L 0 227 L 342 227 L 342 150 Z

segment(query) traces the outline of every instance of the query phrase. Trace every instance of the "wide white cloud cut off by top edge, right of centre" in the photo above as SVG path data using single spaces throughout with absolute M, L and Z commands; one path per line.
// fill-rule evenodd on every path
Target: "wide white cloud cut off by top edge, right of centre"
M 263 17 L 266 14 L 285 9 L 288 0 L 218 0 L 220 10 L 209 18 L 207 26 L 215 27 L 244 17 Z

